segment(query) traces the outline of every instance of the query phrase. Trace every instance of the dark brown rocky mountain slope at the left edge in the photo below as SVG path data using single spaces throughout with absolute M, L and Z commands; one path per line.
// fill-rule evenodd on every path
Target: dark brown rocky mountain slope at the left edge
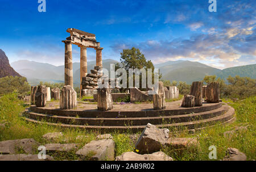
M 22 77 L 13 69 L 13 67 L 10 66 L 9 59 L 7 58 L 5 52 L 0 49 L 0 78 L 5 76 Z

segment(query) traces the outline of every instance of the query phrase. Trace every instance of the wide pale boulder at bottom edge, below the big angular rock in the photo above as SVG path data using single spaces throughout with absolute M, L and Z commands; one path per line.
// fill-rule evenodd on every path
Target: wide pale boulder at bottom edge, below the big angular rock
M 174 159 L 161 151 L 152 154 L 125 152 L 115 157 L 115 161 L 174 161 Z

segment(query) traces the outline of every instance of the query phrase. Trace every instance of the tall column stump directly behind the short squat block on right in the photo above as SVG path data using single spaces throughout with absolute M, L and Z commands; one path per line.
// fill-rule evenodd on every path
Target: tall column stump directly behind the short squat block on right
M 195 106 L 202 106 L 202 85 L 201 81 L 195 81 L 191 85 L 190 95 L 195 96 Z

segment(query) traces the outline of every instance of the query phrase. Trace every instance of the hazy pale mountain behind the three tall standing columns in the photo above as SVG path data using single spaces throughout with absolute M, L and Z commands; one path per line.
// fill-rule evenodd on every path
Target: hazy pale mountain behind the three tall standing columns
M 102 61 L 104 68 L 110 70 L 110 64 L 118 63 L 112 59 L 105 59 Z M 64 65 L 54 66 L 48 63 L 39 63 L 34 61 L 20 60 L 11 63 L 21 75 L 25 76 L 28 83 L 31 85 L 38 85 L 40 81 L 49 82 L 64 82 Z M 96 61 L 87 62 L 88 72 L 96 66 Z M 73 83 L 74 85 L 80 84 L 80 63 L 73 63 Z

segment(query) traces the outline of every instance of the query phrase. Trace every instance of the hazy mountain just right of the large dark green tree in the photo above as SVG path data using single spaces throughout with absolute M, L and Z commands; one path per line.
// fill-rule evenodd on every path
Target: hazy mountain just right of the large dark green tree
M 203 80 L 205 75 L 216 75 L 221 70 L 191 61 L 169 61 L 155 65 L 159 68 L 164 80 L 185 81 L 191 84 L 193 81 Z

